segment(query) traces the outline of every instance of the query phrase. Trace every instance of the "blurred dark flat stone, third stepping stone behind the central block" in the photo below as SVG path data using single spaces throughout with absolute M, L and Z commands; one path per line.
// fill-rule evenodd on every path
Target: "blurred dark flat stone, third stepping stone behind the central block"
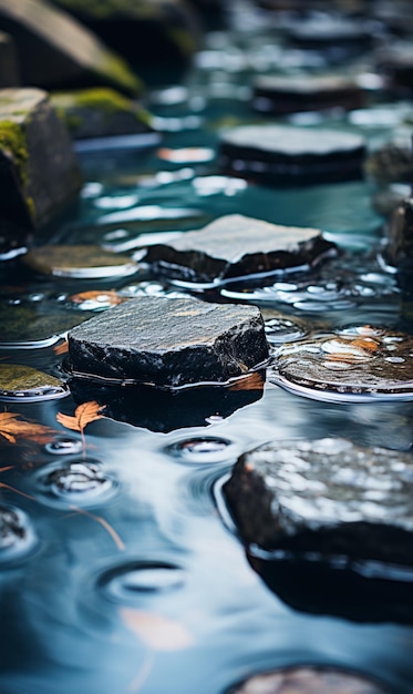
M 340 75 L 291 78 L 259 75 L 254 81 L 252 106 L 261 113 L 297 113 L 363 105 L 363 91 L 354 80 Z

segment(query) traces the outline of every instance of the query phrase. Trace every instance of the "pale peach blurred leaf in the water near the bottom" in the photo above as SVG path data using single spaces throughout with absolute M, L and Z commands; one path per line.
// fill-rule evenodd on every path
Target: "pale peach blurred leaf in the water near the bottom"
M 179 622 L 153 612 L 122 608 L 123 622 L 154 651 L 179 651 L 193 644 L 189 632 Z

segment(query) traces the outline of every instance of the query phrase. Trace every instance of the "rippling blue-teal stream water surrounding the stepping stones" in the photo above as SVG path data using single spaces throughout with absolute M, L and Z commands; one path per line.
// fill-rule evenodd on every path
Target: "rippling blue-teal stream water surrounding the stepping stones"
M 32 337 L 29 330 L 2 338 L 1 363 L 65 380 L 59 346 L 70 325 L 111 310 L 122 298 L 148 294 L 256 303 L 272 357 L 286 340 L 297 350 L 321 340 L 334 378 L 354 366 L 344 350 L 344 367 L 338 367 L 340 340 L 379 340 L 380 329 L 411 333 L 396 279 L 376 259 L 383 221 L 370 205 L 372 183 L 279 191 L 218 170 L 219 132 L 265 122 L 248 105 L 251 75 L 277 68 L 281 55 L 287 71 L 318 67 L 314 54 L 275 42 L 248 4 L 235 3 L 233 14 L 235 29 L 207 37 L 185 85 L 153 95 L 162 142 L 80 151 L 86 178 L 80 208 L 56 226 L 53 241 L 137 254 L 138 272 L 51 279 L 4 262 L 2 307 L 14 297 L 35 319 Z M 405 111 L 405 103 L 400 111 L 392 104 L 371 120 L 362 112 L 323 114 L 319 121 L 362 132 L 376 144 L 400 127 Z M 141 263 L 148 237 L 161 239 L 230 213 L 321 227 L 342 253 L 310 275 L 206 293 L 152 277 Z M 340 359 L 332 359 L 338 351 Z M 372 354 L 365 341 L 353 344 L 355 361 Z M 319 595 L 316 609 L 308 589 L 317 573 L 308 564 L 297 571 L 281 563 L 277 580 L 268 578 L 258 565 L 262 558 L 247 557 L 219 490 L 240 453 L 271 439 L 348 437 L 410 451 L 413 404 L 348 401 L 342 394 L 324 401 L 312 388 L 311 397 L 301 397 L 277 385 L 273 368 L 272 363 L 264 390 L 210 387 L 194 398 L 159 400 L 146 391 L 122 392 L 117 401 L 112 395 L 110 417 L 87 425 L 83 441 L 56 421 L 58 412 L 74 415 L 74 388 L 58 400 L 7 404 L 21 421 L 54 433 L 44 441 L 0 438 L 2 694 L 223 694 L 251 674 L 295 664 L 348 667 L 396 694 L 412 692 L 411 620 L 400 600 L 399 613 L 386 609 L 394 592 L 411 600 L 410 580 L 403 590 L 402 579 L 374 584 L 375 592 L 369 583 L 380 610 L 355 619 L 354 575 L 337 570 L 342 600 Z M 101 404 L 109 397 L 103 387 L 93 395 L 89 399 Z M 286 586 L 297 575 L 300 591 L 291 595 Z

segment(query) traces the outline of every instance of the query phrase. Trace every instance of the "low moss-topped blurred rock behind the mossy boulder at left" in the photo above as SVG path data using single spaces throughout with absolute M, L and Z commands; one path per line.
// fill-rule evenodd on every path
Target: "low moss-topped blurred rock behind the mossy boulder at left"
M 52 103 L 74 140 L 152 131 L 149 113 L 112 89 L 56 92 Z

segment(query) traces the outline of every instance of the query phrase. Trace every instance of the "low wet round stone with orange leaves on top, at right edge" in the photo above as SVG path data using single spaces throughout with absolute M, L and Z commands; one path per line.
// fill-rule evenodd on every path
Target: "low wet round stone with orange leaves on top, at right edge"
M 413 400 L 413 336 L 374 326 L 322 333 L 275 353 L 275 382 L 314 400 Z

